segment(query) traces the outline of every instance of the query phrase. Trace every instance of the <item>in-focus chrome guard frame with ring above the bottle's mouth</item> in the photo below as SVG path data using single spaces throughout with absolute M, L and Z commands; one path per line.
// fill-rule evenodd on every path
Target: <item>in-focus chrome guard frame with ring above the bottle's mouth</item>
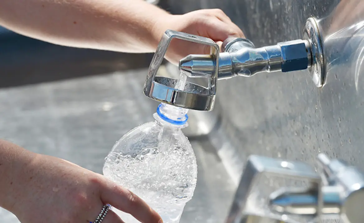
M 214 69 L 209 75 L 203 76 L 203 78 L 208 80 L 207 87 L 187 81 L 184 89 L 176 89 L 177 79 L 157 76 L 157 71 L 162 64 L 167 48 L 174 38 L 205 44 L 211 47 L 210 55 L 206 56 L 211 58 Z M 211 111 L 216 96 L 219 51 L 219 46 L 209 38 L 167 30 L 162 36 L 157 51 L 150 63 L 147 79 L 143 88 L 144 95 L 161 103 L 171 104 L 181 108 Z M 188 74 L 187 76 L 201 77 L 193 74 Z

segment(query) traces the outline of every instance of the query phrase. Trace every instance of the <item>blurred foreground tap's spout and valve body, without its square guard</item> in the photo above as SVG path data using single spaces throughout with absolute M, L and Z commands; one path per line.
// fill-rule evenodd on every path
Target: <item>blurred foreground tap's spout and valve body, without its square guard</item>
M 345 223 L 363 222 L 364 175 L 325 154 L 318 154 L 318 161 L 323 167 L 321 187 L 298 193 L 292 188 L 277 191 L 270 197 L 272 210 L 287 215 L 333 216 Z

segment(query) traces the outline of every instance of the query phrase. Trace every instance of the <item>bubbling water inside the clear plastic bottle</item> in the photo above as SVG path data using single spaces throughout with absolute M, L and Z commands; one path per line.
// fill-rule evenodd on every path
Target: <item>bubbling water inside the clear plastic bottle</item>
M 187 145 L 171 146 L 174 148 L 169 148 L 163 156 L 159 156 L 162 153 L 157 152 L 157 148 L 145 150 L 146 154 L 141 159 L 114 154 L 115 159 L 112 162 L 107 161 L 103 172 L 114 182 L 128 188 L 145 200 L 161 215 L 163 222 L 178 223 L 186 201 L 191 199 L 193 194 L 196 181 L 194 171 L 197 170 L 191 168 L 195 163 L 195 158 L 191 156 L 192 151 L 186 150 Z M 108 159 L 111 159 L 111 156 Z M 140 165 L 141 163 L 143 166 Z M 159 174 L 156 172 L 156 166 L 161 163 L 163 164 L 160 166 L 162 174 Z M 113 211 L 124 222 L 138 223 L 130 214 L 116 208 Z

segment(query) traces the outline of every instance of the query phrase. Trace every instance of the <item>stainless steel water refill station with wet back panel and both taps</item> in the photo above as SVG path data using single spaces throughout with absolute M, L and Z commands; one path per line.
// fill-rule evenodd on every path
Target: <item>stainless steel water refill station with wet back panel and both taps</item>
M 149 2 L 173 14 L 220 8 L 247 39 L 219 48 L 167 31 L 145 79 L 149 56 L 1 29 L 1 136 L 100 172 L 112 143 L 150 121 L 157 104 L 189 108 L 185 135 L 199 170 L 181 222 L 363 222 L 364 1 Z M 175 38 L 211 53 L 162 63 Z M 187 83 L 177 89 L 181 72 Z

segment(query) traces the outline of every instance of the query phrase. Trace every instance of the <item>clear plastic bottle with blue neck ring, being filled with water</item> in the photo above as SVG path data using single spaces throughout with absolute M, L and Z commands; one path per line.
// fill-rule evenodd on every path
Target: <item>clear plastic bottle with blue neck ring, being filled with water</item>
M 154 122 L 125 134 L 105 158 L 103 174 L 145 200 L 164 223 L 178 223 L 197 182 L 196 157 L 181 129 L 187 111 L 160 104 Z M 114 208 L 127 223 L 139 223 Z

